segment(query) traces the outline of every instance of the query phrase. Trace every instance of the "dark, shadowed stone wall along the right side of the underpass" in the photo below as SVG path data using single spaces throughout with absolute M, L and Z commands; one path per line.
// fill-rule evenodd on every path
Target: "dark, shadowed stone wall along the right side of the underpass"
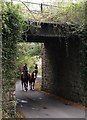
M 45 42 L 42 58 L 42 90 L 84 104 L 79 38 L 71 36 Z

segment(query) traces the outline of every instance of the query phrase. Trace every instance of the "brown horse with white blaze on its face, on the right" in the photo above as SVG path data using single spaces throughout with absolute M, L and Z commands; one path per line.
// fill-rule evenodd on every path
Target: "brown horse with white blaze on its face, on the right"
M 30 80 L 29 80 L 30 90 L 34 90 L 36 78 L 37 78 L 37 72 L 34 70 L 30 75 Z

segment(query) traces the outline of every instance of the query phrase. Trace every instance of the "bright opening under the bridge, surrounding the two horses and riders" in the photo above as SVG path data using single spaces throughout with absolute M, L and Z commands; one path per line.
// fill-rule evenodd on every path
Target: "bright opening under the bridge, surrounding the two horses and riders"
M 31 73 L 35 69 L 35 65 L 38 67 L 38 74 L 36 78 L 35 89 L 41 89 L 42 80 L 42 44 L 37 42 L 18 42 L 17 43 L 17 80 L 21 82 L 22 66 L 26 63 L 28 73 Z M 20 83 L 21 86 L 21 83 Z M 28 89 L 29 85 L 28 85 Z

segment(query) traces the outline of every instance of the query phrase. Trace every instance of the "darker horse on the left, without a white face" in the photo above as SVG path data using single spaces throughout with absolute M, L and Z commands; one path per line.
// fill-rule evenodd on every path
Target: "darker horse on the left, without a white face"
M 28 74 L 28 71 L 24 71 L 21 74 L 21 84 L 22 84 L 22 90 L 23 90 L 23 85 L 25 90 L 28 90 L 28 81 L 30 79 L 30 74 Z

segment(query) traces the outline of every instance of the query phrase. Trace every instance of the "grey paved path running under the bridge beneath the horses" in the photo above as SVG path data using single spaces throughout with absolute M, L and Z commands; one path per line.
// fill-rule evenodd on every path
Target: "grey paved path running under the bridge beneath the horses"
M 20 81 L 16 82 L 16 98 L 17 108 L 25 118 L 85 118 L 85 110 L 39 91 L 22 91 Z

